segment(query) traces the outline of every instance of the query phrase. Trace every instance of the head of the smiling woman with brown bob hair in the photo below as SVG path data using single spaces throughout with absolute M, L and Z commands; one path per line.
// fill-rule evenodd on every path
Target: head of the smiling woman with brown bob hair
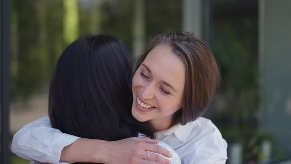
M 148 117 L 152 117 L 148 120 L 153 119 L 150 122 L 156 122 L 154 124 L 184 125 L 206 112 L 219 80 L 216 60 L 203 41 L 188 32 L 158 35 L 137 63 L 133 78 L 134 101 L 139 97 L 141 101 L 159 105 L 159 110 L 148 113 L 151 115 Z M 133 115 L 138 117 L 135 109 L 141 108 L 132 107 Z M 153 117 L 154 113 L 159 113 L 155 116 L 159 121 Z M 138 118 L 147 121 L 145 113 L 143 119 Z

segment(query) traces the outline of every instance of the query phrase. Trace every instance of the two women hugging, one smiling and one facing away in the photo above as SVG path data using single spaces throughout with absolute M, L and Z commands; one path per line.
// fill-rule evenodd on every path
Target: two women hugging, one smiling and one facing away
M 57 63 L 48 116 L 11 149 L 51 164 L 225 164 L 227 144 L 202 117 L 219 80 L 210 48 L 189 32 L 153 37 L 134 70 L 121 40 L 83 37 Z

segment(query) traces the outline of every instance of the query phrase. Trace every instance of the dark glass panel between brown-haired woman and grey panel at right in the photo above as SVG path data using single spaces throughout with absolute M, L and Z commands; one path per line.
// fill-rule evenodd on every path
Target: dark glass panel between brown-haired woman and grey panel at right
M 257 17 L 257 1 L 214 3 L 213 51 L 222 81 L 213 102 L 212 120 L 228 142 L 228 164 L 256 162 L 260 153 L 253 154 L 259 143 L 250 143 L 260 135 L 254 116 L 260 103 Z

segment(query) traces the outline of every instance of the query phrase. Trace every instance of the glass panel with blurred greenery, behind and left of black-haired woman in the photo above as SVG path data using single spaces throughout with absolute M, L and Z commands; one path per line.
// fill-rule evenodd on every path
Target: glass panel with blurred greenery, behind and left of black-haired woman
M 11 136 L 47 115 L 56 61 L 79 36 L 110 33 L 138 56 L 150 36 L 179 29 L 177 0 L 11 0 Z

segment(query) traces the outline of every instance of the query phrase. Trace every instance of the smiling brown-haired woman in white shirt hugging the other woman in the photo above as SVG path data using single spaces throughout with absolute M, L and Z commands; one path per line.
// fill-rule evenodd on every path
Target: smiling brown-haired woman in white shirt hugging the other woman
M 201 117 L 207 110 L 219 82 L 219 69 L 210 48 L 188 32 L 172 32 L 154 37 L 140 57 L 132 81 L 133 104 L 131 113 L 140 122 L 149 122 L 156 138 L 169 144 L 180 156 L 182 164 L 224 164 L 227 144 L 217 127 Z M 20 141 L 32 142 L 33 135 L 21 137 L 25 132 L 40 132 L 33 126 L 15 134 L 15 143 L 23 153 Z M 56 130 L 46 127 L 48 130 Z M 57 132 L 55 132 L 57 133 Z M 72 139 L 72 136 L 60 134 Z M 53 139 L 52 139 L 53 138 Z M 41 141 L 55 141 L 54 137 L 40 137 Z M 109 164 L 136 164 L 139 159 L 153 159 L 154 153 L 147 144 L 136 144 L 133 138 L 113 142 L 76 139 L 62 145 L 58 160 L 84 161 Z M 96 150 L 94 146 L 104 147 Z M 30 153 L 38 152 L 30 147 Z M 41 147 L 38 144 L 38 147 Z M 45 150 L 53 150 L 46 146 Z M 147 152 L 151 151 L 151 152 Z M 84 157 L 72 158 L 78 153 Z M 50 153 L 47 153 L 50 154 Z M 45 155 L 46 157 L 48 155 Z M 38 159 L 39 156 L 30 156 Z M 124 158 L 126 157 L 126 158 Z M 130 158 L 127 158 L 130 157 Z M 158 157 L 158 156 L 155 156 Z M 87 158 L 88 159 L 88 158 Z M 52 162 L 52 161 L 50 161 Z

